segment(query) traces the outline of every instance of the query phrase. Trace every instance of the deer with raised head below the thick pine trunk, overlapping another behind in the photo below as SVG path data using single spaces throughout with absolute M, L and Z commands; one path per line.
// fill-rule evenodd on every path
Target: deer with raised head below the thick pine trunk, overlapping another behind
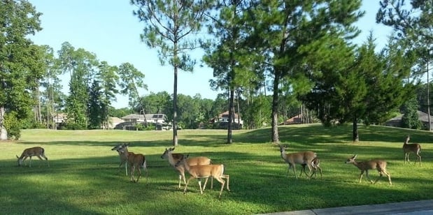
M 311 172 L 311 168 L 312 168 L 311 163 L 312 163 L 313 159 L 315 157 L 317 157 L 317 154 L 315 154 L 314 151 L 300 151 L 300 152 L 286 154 L 285 148 L 281 145 L 279 145 L 279 147 L 280 147 L 280 152 L 281 152 L 281 158 L 283 158 L 285 163 L 288 163 L 288 165 L 289 165 L 288 166 L 288 172 L 290 172 L 290 168 L 292 168 L 293 173 L 294 173 L 294 177 L 298 178 L 296 175 L 296 167 L 295 167 L 296 164 L 306 165 L 308 167 L 308 170 L 310 170 L 310 172 Z M 302 170 L 301 170 L 301 175 L 302 175 Z M 299 176 L 301 176 L 301 175 L 299 175 Z M 307 177 L 308 177 L 308 175 L 307 175 Z

